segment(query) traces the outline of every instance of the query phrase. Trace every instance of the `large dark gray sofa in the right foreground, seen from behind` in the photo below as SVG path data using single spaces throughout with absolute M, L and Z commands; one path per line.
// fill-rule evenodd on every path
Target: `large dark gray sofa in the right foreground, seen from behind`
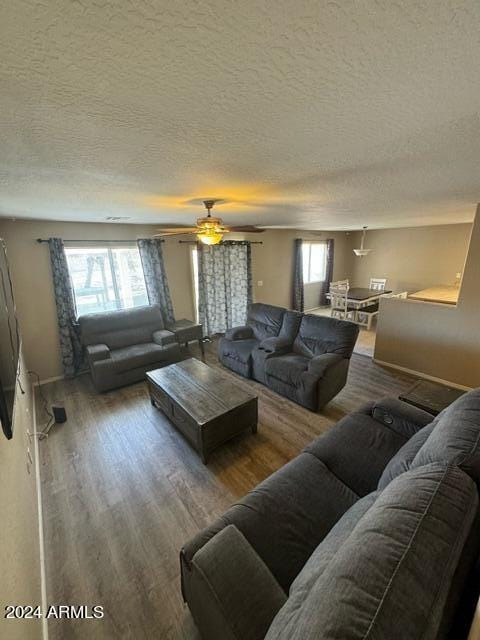
M 478 597 L 480 389 L 350 414 L 180 554 L 204 640 L 462 639 Z

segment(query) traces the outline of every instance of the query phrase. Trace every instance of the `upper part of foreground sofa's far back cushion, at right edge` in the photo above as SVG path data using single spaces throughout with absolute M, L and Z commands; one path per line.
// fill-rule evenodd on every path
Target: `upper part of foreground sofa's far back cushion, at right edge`
M 460 466 L 480 484 L 480 388 L 455 400 L 432 425 L 433 431 L 411 468 L 445 461 Z

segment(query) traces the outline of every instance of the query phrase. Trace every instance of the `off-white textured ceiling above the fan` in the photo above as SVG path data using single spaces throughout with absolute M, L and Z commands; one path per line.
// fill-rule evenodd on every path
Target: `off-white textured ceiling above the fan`
M 0 215 L 309 229 L 470 221 L 478 0 L 15 0 Z

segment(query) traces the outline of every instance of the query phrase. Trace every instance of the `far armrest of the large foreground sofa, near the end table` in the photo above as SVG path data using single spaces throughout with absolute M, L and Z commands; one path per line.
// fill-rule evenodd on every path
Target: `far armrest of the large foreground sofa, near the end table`
M 375 402 L 372 417 L 405 438 L 411 438 L 434 418 L 430 413 L 392 397 Z

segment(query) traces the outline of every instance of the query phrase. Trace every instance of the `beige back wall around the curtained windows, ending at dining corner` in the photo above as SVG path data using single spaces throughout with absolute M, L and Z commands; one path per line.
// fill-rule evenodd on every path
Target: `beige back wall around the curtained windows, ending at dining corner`
M 16 291 L 16 302 L 28 367 L 37 371 L 42 380 L 62 374 L 58 345 L 57 318 L 53 295 L 48 248 L 35 242 L 36 238 L 57 236 L 80 240 L 129 240 L 149 237 L 154 226 L 126 224 L 64 223 L 38 221 L 0 221 L 0 236 L 7 243 Z M 300 233 L 295 231 L 266 231 L 262 234 L 240 236 L 261 240 L 252 247 L 254 299 L 290 306 L 293 273 L 293 241 L 296 237 L 322 239 L 335 237 L 335 277 L 348 274 L 350 252 L 343 233 Z M 172 302 L 177 318 L 194 318 L 193 281 L 191 273 L 191 245 L 179 244 L 179 238 L 164 244 Z M 263 286 L 258 281 L 263 280 Z

